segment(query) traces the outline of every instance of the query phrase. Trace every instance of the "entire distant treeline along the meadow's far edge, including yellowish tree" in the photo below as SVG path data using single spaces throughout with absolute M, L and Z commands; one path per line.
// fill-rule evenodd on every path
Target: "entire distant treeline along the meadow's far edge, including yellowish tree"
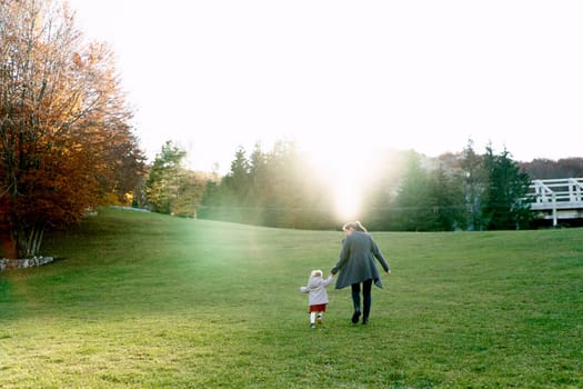
M 158 212 L 268 227 L 338 229 L 334 188 L 316 173 L 293 142 L 268 151 L 239 148 L 224 177 L 189 172 L 185 152 L 168 142 L 145 186 Z M 335 172 L 342 174 L 342 164 Z M 525 200 L 532 178 L 581 177 L 583 159 L 517 162 L 510 151 L 482 153 L 472 141 L 462 152 L 428 158 L 415 151 L 388 152 L 362 167 L 366 180 L 352 188 L 360 219 L 371 230 L 452 231 L 525 229 L 533 225 Z M 372 171 L 372 174 L 370 173 Z

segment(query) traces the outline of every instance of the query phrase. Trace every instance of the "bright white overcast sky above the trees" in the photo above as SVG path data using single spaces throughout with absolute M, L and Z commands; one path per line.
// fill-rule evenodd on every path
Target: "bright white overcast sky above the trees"
M 117 54 L 152 160 L 229 169 L 294 140 L 322 163 L 389 149 L 583 157 L 582 1 L 70 0 Z

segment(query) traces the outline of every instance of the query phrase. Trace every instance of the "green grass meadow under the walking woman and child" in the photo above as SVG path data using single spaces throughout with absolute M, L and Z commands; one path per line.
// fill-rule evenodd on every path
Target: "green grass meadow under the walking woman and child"
M 104 210 L 0 273 L 0 387 L 583 387 L 583 230 L 374 237 L 370 326 L 331 287 L 311 331 L 341 232 Z

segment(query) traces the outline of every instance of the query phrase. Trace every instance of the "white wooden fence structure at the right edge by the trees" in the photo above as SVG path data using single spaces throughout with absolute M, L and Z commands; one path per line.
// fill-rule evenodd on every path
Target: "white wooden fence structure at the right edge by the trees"
M 583 218 L 583 178 L 534 180 L 530 189 L 531 209 L 552 219 L 553 226 L 559 219 Z

